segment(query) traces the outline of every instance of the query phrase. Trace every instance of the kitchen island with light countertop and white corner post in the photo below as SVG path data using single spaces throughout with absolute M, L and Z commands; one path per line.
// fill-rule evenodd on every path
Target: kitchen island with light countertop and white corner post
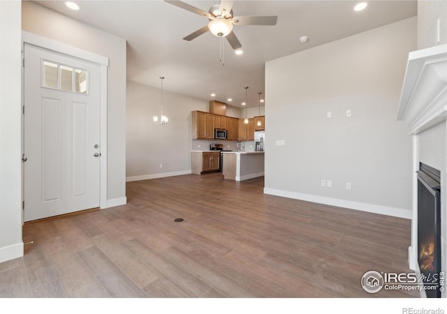
M 224 179 L 244 181 L 264 175 L 264 151 L 222 151 Z

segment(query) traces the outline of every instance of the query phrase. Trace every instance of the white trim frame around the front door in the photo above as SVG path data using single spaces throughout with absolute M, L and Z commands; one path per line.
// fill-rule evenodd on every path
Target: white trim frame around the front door
M 86 50 L 79 49 L 56 40 L 37 36 L 34 33 L 22 31 L 22 55 L 24 53 L 24 44 L 34 45 L 46 50 L 66 54 L 69 57 L 84 59 L 100 66 L 100 179 L 99 179 L 99 208 L 107 208 L 107 68 L 109 66 L 108 57 L 103 57 Z M 26 61 L 25 61 L 26 62 Z M 24 86 L 23 86 L 23 67 L 22 67 L 22 106 L 24 105 Z M 23 120 L 22 120 L 23 123 Z M 22 126 L 23 130 L 23 126 Z M 22 139 L 23 141 L 23 139 Z M 22 152 L 23 153 L 23 152 Z M 23 174 L 22 174 L 23 181 Z

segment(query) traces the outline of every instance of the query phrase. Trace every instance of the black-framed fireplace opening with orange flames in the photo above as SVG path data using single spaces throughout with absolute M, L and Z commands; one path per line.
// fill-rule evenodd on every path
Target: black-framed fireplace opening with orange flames
M 441 272 L 441 172 L 423 163 L 418 170 L 418 263 L 427 297 L 439 298 Z

